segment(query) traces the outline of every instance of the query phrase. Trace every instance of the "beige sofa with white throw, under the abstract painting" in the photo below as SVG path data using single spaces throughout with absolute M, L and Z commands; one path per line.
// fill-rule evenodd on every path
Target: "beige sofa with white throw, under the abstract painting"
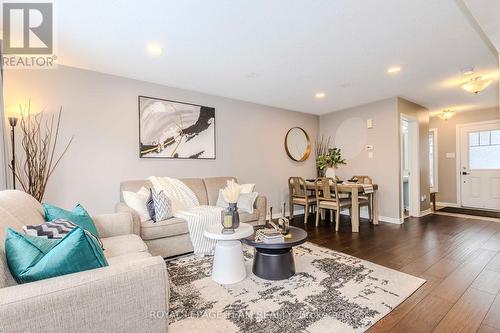
M 212 178 L 182 178 L 197 196 L 201 205 L 215 206 L 219 196 L 219 190 L 225 188 L 227 181 L 235 177 L 212 177 Z M 141 222 L 139 215 L 123 202 L 123 191 L 137 192 L 141 187 L 151 188 L 148 180 L 129 180 L 120 184 L 121 202 L 116 205 L 116 212 L 126 212 L 133 216 L 134 233 L 140 235 L 146 242 L 149 252 L 153 255 L 171 257 L 193 251 L 187 222 L 183 219 L 172 217 L 165 221 L 154 223 L 153 221 Z M 240 212 L 240 221 L 250 224 L 265 224 L 266 221 L 266 197 L 259 195 L 255 200 L 254 213 Z

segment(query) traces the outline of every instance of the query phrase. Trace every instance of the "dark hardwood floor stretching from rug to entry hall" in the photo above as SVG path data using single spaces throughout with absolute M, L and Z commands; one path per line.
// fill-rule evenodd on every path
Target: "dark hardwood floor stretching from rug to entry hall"
M 368 332 L 500 333 L 500 223 L 428 215 L 404 224 L 362 221 L 352 233 L 328 220 L 292 225 L 309 241 L 427 280 Z

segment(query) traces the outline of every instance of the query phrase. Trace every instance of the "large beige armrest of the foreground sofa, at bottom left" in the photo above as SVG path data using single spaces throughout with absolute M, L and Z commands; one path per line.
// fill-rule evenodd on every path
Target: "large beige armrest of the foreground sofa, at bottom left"
M 150 257 L 0 289 L 0 332 L 166 332 L 167 270 Z

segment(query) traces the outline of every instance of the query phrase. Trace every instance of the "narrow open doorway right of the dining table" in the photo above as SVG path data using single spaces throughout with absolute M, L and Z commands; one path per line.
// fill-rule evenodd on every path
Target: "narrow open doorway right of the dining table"
M 420 215 L 419 134 L 416 118 L 401 115 L 401 218 Z

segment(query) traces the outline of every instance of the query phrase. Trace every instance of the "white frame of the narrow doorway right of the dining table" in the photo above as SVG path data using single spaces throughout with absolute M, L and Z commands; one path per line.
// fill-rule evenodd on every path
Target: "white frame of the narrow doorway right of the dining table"
M 409 170 L 410 177 L 408 177 L 408 205 L 409 205 L 409 215 L 418 217 L 420 216 L 420 140 L 419 140 L 419 128 L 418 119 L 416 117 L 400 114 L 399 118 L 399 182 L 400 182 L 400 216 L 404 219 L 404 182 L 403 182 L 403 142 L 401 140 L 402 131 L 401 123 L 403 120 L 408 122 L 408 159 L 409 159 Z

